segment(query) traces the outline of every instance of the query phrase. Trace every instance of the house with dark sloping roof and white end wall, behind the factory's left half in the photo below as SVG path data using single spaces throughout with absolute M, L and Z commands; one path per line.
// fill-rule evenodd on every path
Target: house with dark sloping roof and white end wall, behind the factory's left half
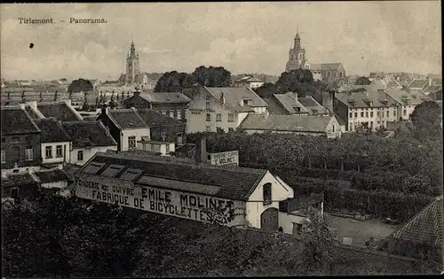
M 150 131 L 147 123 L 135 108 L 131 109 L 102 109 L 98 120 L 109 129 L 109 133 L 117 143 L 117 151 L 137 149 L 137 143 L 142 136 L 149 138 Z

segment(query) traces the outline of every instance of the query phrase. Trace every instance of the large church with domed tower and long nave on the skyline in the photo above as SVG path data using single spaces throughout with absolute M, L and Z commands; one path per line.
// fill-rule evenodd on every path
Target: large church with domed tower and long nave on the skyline
M 342 63 L 311 64 L 305 57 L 305 49 L 301 47 L 298 33 L 296 33 L 293 47 L 289 50 L 289 61 L 285 66 L 285 72 L 297 69 L 310 70 L 315 81 L 333 82 L 346 76 Z

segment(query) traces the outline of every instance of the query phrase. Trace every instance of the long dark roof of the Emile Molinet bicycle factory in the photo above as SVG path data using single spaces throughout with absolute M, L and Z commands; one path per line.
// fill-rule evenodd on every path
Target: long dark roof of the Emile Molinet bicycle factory
M 96 153 L 81 171 L 88 173 L 88 168 L 94 163 L 105 164 L 100 167 L 96 175 L 100 175 L 110 165 L 121 165 L 124 168 L 143 170 L 143 174 L 135 180 L 135 183 L 158 186 L 157 183 L 162 182 L 165 188 L 201 194 L 209 194 L 208 190 L 211 189 L 214 190 L 211 192 L 212 196 L 236 200 L 247 200 L 250 191 L 256 188 L 266 174 L 264 169 L 182 163 L 168 161 L 168 157 L 163 156 L 133 159 L 103 152 Z M 123 172 L 124 170 L 119 174 Z

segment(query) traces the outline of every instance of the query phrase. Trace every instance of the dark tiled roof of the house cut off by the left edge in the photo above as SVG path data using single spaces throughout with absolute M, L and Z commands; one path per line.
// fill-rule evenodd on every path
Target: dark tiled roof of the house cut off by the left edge
M 28 112 L 20 106 L 2 106 L 2 135 L 40 132 Z

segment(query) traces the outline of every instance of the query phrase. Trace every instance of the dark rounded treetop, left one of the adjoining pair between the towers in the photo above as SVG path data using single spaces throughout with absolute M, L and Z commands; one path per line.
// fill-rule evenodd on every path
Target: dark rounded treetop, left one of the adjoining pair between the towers
M 190 74 L 167 72 L 155 84 L 155 92 L 180 92 L 193 86 L 193 77 Z

